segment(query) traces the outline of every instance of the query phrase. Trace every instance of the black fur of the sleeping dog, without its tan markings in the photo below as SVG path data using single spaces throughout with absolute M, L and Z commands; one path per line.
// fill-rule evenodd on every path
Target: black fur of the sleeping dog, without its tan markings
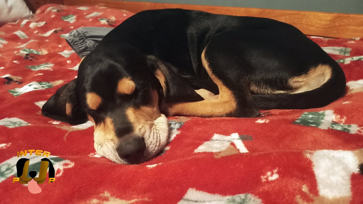
M 203 50 L 211 72 L 233 94 L 236 109 L 222 115 L 195 116 L 257 117 L 258 109 L 322 107 L 339 98 L 345 88 L 337 62 L 292 25 L 183 9 L 150 10 L 108 33 L 82 61 L 78 78 L 59 89 L 42 113 L 71 124 L 86 122 L 90 115 L 97 125 L 107 116 L 118 136 L 129 134 L 131 122 L 122 110 L 151 104 L 149 90 L 162 89 L 155 77 L 158 69 L 166 79 L 159 103 L 201 101 L 197 89 L 219 93 L 202 64 Z M 250 90 L 253 83 L 268 90 L 289 91 L 289 79 L 319 65 L 330 66 L 331 77 L 317 89 L 296 94 Z M 117 82 L 123 77 L 132 78 L 135 91 L 115 96 Z M 90 91 L 102 98 L 97 111 L 86 104 L 85 94 Z M 72 117 L 65 114 L 66 103 L 73 104 Z M 162 113 L 168 115 L 169 111 L 166 108 Z

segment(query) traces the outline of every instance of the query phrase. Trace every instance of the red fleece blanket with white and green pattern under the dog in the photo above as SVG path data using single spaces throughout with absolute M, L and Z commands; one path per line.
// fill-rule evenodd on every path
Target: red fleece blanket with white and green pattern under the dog
M 131 15 L 44 5 L 0 28 L 0 203 L 363 203 L 360 39 L 310 36 L 346 74 L 346 94 L 330 105 L 260 118 L 170 117 L 167 147 L 138 165 L 95 154 L 91 122 L 43 117 L 45 101 L 77 76 L 80 58 L 64 37 Z M 20 183 L 29 171 L 44 183 Z

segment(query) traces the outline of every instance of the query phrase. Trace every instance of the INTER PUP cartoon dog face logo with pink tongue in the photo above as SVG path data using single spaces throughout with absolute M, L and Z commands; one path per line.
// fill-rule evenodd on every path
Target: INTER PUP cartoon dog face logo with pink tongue
M 18 162 L 16 163 L 16 173 L 17 177 L 13 178 L 13 183 L 19 182 L 21 184 L 28 184 L 28 190 L 30 193 L 40 193 L 42 192 L 42 189 L 39 187 L 38 184 L 42 184 L 45 182 L 46 174 L 49 166 L 49 180 L 48 183 L 52 183 L 56 180 L 54 178 L 54 167 L 52 162 L 48 159 L 50 152 L 42 151 L 42 150 L 25 150 L 17 152 L 17 156 L 26 156 L 27 154 L 32 155 L 35 154 L 36 156 L 46 156 L 47 158 L 42 158 L 40 163 L 40 170 L 39 175 L 37 176 L 36 171 L 30 171 L 28 177 L 28 170 L 29 170 L 29 159 L 26 158 L 20 158 Z

